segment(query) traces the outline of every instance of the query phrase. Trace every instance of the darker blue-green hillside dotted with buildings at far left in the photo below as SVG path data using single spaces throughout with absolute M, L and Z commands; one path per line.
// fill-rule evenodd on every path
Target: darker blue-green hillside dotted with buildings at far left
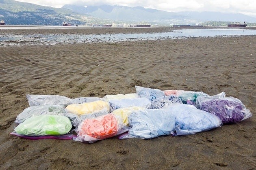
M 0 19 L 7 25 L 61 25 L 63 21 L 84 24 L 92 18 L 65 8 L 52 8 L 14 0 L 0 0 Z

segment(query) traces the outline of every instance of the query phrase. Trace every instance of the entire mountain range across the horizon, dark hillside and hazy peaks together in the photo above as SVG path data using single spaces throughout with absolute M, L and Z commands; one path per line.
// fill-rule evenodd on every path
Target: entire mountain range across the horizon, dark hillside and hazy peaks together
M 66 4 L 62 8 L 40 6 L 15 0 L 0 0 L 0 19 L 7 25 L 62 25 L 63 21 L 74 25 L 101 24 L 151 24 L 170 26 L 173 24 L 196 24 L 206 21 L 251 22 L 256 17 L 240 13 L 218 12 L 167 12 L 141 6 L 119 5 L 79 6 Z

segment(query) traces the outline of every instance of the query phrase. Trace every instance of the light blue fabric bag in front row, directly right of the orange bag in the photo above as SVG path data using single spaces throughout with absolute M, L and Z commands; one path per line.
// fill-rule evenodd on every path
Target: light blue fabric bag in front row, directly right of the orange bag
M 128 119 L 132 128 L 119 139 L 151 139 L 173 134 L 175 130 L 175 117 L 165 109 L 137 110 Z

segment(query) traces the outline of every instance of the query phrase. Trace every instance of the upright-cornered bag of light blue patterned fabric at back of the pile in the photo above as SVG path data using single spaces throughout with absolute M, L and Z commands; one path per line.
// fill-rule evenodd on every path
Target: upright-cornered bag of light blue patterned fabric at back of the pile
M 150 89 L 140 86 L 135 86 L 137 94 L 141 98 L 148 98 L 150 101 L 166 96 L 165 93 L 159 89 Z

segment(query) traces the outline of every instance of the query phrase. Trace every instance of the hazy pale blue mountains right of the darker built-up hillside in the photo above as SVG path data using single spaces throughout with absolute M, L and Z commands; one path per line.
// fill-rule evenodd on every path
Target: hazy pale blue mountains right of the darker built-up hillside
M 119 5 L 78 6 L 66 4 L 62 8 L 70 9 L 80 14 L 87 14 L 97 18 L 121 20 L 121 21 L 150 21 L 165 23 L 193 24 L 205 21 L 247 21 L 256 22 L 255 17 L 240 13 L 219 12 L 167 12 L 156 9 L 143 8 L 141 6 L 128 7 Z

